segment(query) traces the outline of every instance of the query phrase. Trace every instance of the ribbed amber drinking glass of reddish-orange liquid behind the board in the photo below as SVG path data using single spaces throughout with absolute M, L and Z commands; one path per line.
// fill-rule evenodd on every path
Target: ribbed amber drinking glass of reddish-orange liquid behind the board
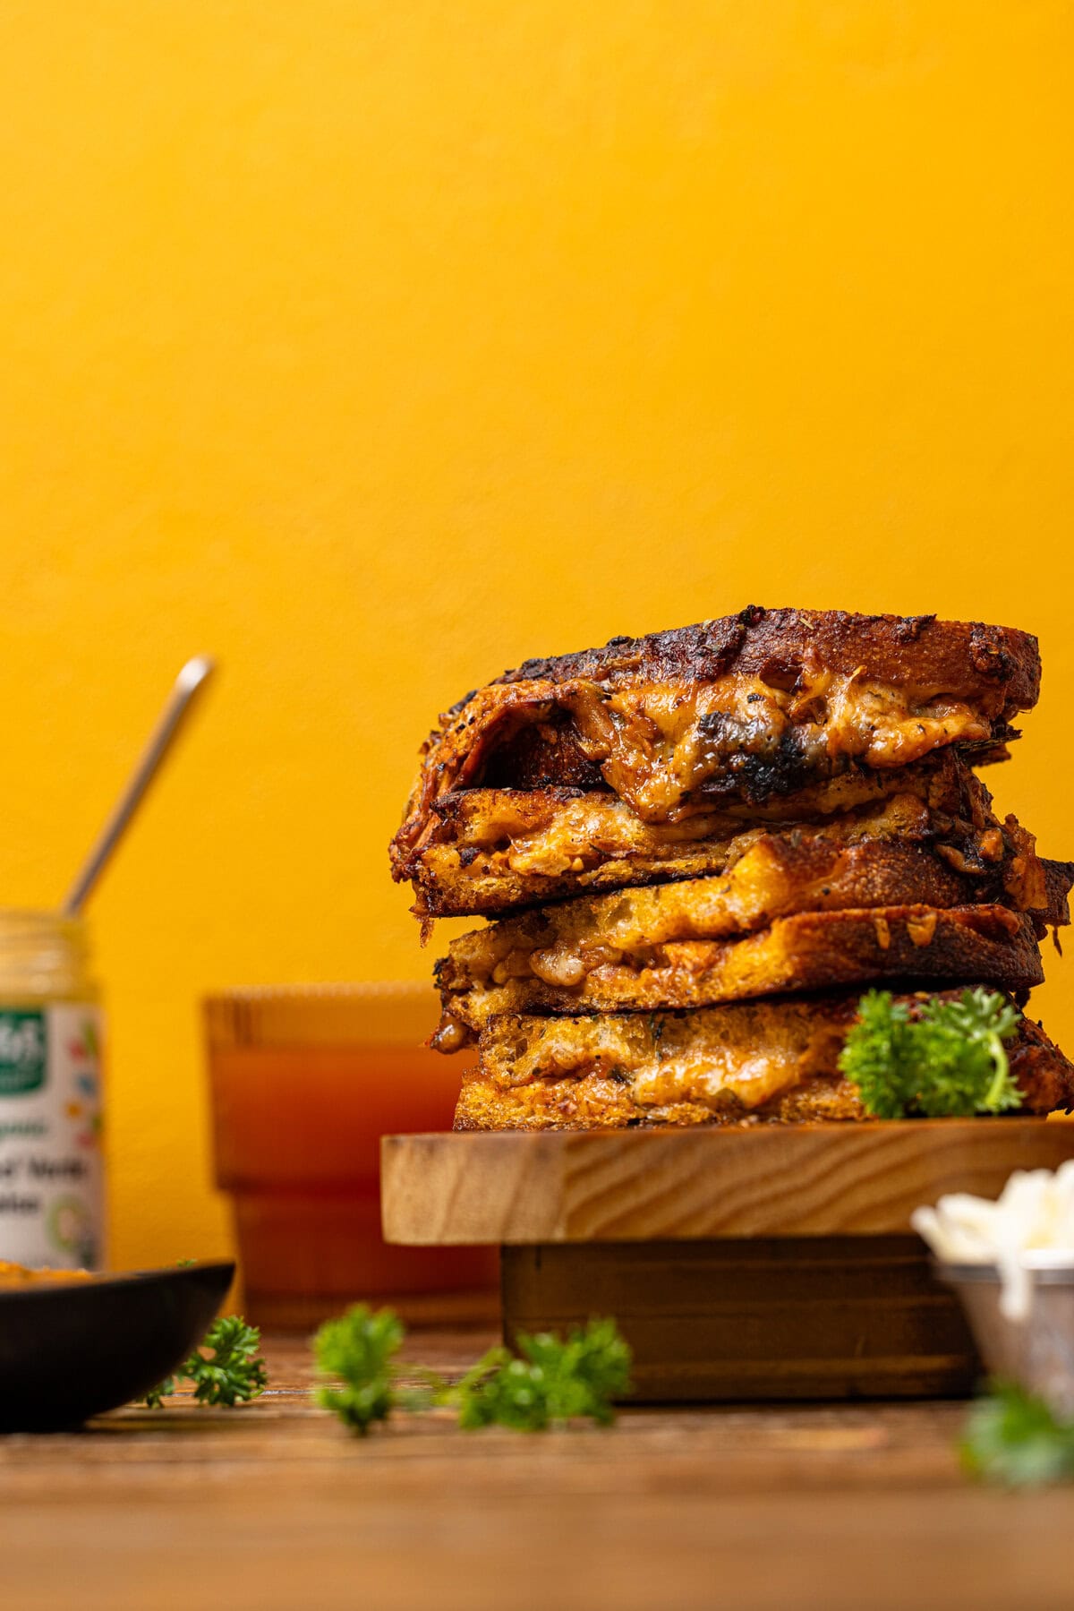
M 390 1247 L 380 1137 L 451 1129 L 459 1075 L 422 1042 L 428 984 L 296 984 L 206 1002 L 216 1182 L 232 1197 L 243 1310 L 308 1331 L 357 1298 L 404 1321 L 498 1318 L 494 1247 Z

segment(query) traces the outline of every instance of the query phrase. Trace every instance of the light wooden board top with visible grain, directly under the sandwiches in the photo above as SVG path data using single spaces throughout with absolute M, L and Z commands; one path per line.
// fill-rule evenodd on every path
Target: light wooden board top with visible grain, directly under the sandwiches
M 385 1136 L 388 1242 L 638 1242 L 910 1229 L 944 1192 L 1074 1157 L 1074 1124 L 915 1120 L 758 1129 Z

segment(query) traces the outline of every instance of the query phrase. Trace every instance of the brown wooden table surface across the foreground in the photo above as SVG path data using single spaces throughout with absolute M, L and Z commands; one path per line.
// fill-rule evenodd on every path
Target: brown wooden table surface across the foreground
M 444 1371 L 483 1332 L 417 1332 Z M 271 1390 L 176 1398 L 82 1434 L 0 1439 L 11 1611 L 504 1611 L 726 1606 L 1069 1611 L 1074 1490 L 968 1484 L 965 1405 L 625 1411 L 610 1431 L 367 1440 L 308 1397 L 304 1344 Z

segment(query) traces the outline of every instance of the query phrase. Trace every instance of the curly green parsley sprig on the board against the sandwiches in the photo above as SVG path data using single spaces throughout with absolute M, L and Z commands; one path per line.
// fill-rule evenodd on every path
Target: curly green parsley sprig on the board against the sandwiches
M 1021 1107 L 1005 1042 L 1021 1013 L 997 991 L 932 996 L 911 1010 L 868 991 L 839 1055 L 874 1118 L 969 1118 Z

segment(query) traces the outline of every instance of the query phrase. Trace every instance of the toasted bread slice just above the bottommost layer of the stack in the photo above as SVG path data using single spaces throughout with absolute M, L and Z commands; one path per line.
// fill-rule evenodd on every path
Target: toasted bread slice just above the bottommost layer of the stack
M 433 1037 L 438 1050 L 459 1050 L 504 1012 L 678 1010 L 889 979 L 981 979 L 1022 992 L 1043 979 L 1032 918 L 1003 905 L 797 912 L 741 939 L 609 949 L 604 957 L 589 957 L 596 965 L 573 984 L 541 978 L 522 955 L 518 973 L 502 962 L 486 973 L 489 954 L 480 939 L 464 934 L 436 963 L 444 1008 Z

